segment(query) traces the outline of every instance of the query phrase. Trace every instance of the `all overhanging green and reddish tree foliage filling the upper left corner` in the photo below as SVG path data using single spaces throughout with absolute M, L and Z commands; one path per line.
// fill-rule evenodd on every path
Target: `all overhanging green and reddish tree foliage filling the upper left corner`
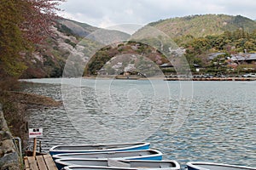
M 42 43 L 51 32 L 55 11 L 62 0 L 1 0 L 0 81 L 18 78 L 26 65 L 25 52 Z

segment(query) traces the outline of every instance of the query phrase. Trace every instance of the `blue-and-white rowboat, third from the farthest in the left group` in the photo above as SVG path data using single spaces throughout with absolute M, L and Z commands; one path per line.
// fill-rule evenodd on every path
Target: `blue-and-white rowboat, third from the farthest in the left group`
M 177 161 L 148 161 L 148 160 L 94 160 L 94 159 L 58 159 L 55 160 L 56 166 L 61 169 L 67 166 L 84 167 L 131 167 L 136 169 L 154 169 L 154 170 L 179 170 L 180 165 Z

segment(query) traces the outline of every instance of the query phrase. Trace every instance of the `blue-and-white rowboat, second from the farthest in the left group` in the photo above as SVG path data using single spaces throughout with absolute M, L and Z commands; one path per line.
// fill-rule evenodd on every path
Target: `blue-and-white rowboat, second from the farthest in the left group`
M 108 151 L 108 152 L 88 152 L 88 153 L 70 153 L 57 154 L 52 156 L 54 160 L 61 158 L 79 158 L 79 159 L 129 159 L 129 160 L 162 160 L 162 153 L 159 150 L 128 150 L 128 151 Z

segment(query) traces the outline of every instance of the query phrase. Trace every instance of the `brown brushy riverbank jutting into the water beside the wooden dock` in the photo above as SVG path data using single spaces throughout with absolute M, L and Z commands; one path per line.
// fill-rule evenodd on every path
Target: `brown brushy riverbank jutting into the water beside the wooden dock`
M 28 141 L 27 116 L 29 109 L 58 107 L 61 101 L 56 101 L 38 94 L 7 91 L 4 93 L 3 114 L 10 132 L 14 137 L 19 137 L 22 142 L 22 151 L 26 150 Z

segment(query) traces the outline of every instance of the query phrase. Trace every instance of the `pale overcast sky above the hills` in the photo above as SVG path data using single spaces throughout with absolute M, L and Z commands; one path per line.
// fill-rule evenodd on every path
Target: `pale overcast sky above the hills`
M 60 8 L 64 18 L 102 28 L 190 14 L 241 14 L 256 20 L 255 0 L 67 0 Z

